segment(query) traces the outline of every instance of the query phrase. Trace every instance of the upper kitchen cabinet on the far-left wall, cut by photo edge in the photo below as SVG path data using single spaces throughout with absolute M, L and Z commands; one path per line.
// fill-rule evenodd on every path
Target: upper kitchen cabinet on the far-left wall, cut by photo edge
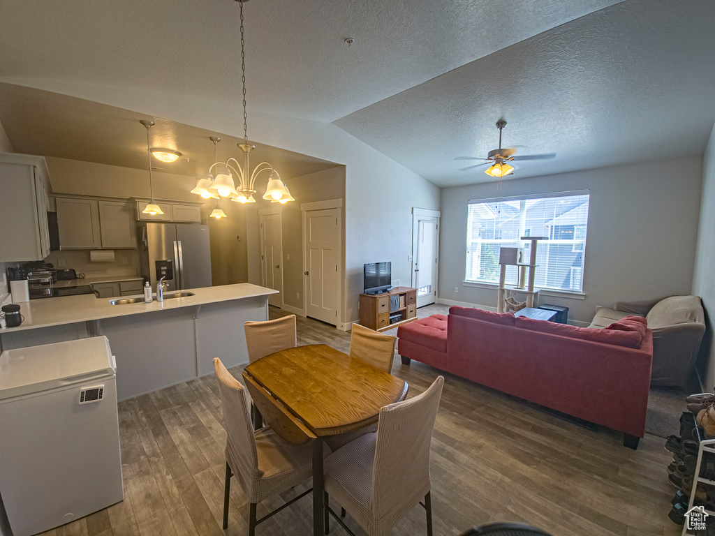
M 0 154 L 0 262 L 39 261 L 49 255 L 43 157 Z

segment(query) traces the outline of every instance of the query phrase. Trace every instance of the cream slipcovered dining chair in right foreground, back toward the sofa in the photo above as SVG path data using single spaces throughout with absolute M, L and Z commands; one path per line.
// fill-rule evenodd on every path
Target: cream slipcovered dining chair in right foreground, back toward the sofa
M 443 384 L 438 376 L 422 394 L 383 407 L 377 434 L 362 435 L 325 458 L 326 534 L 327 512 L 350 532 L 327 505 L 332 495 L 370 536 L 388 532 L 425 497 L 432 536 L 430 441 Z

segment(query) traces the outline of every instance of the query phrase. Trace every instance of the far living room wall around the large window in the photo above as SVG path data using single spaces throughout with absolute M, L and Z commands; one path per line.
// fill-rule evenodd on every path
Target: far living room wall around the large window
M 496 289 L 463 286 L 470 199 L 583 189 L 591 192 L 586 298 L 542 297 L 542 303 L 569 307 L 569 319 L 590 322 L 598 305 L 689 294 L 701 182 L 696 157 L 443 189 L 438 296 L 496 306 Z

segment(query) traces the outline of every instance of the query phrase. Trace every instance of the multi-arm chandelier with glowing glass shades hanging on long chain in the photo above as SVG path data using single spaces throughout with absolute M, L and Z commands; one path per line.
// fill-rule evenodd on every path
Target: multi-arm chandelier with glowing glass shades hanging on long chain
M 252 149 L 255 149 L 255 146 L 248 142 L 248 115 L 246 113 L 246 54 L 244 51 L 245 41 L 243 29 L 243 2 L 245 0 L 235 1 L 240 4 L 241 81 L 243 89 L 243 142 L 237 144 L 237 147 L 243 151 L 244 162 L 243 165 L 241 165 L 235 158 L 229 158 L 226 162 L 217 162 L 215 158 L 214 164 L 212 164 L 211 167 L 209 167 L 208 172 L 204 174 L 201 179 L 199 179 L 196 187 L 192 190 L 192 193 L 199 194 L 201 197 L 204 197 L 204 199 L 208 199 L 209 197 L 215 197 L 216 199 L 220 197 L 230 197 L 231 201 L 237 203 L 255 203 L 256 200 L 254 199 L 253 194 L 256 193 L 256 178 L 262 172 L 270 172 L 266 191 L 265 194 L 263 194 L 263 199 L 270 200 L 272 203 L 285 204 L 289 201 L 295 201 L 295 199 L 293 199 L 290 191 L 285 185 L 285 182 L 282 181 L 280 175 L 271 164 L 268 162 L 261 162 L 255 167 L 253 172 L 250 173 L 248 154 L 252 151 Z M 216 144 L 220 141 L 220 138 L 212 137 L 210 139 L 214 142 L 215 150 Z M 212 170 L 216 173 L 215 176 L 212 174 Z M 235 181 L 237 181 L 237 183 Z M 238 184 L 238 186 L 236 186 L 236 184 Z

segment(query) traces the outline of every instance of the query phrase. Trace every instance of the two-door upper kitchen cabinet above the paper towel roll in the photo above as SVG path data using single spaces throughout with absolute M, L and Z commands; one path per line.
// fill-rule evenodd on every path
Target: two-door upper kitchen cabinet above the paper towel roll
M 137 247 L 132 204 L 58 197 L 56 206 L 61 249 Z

